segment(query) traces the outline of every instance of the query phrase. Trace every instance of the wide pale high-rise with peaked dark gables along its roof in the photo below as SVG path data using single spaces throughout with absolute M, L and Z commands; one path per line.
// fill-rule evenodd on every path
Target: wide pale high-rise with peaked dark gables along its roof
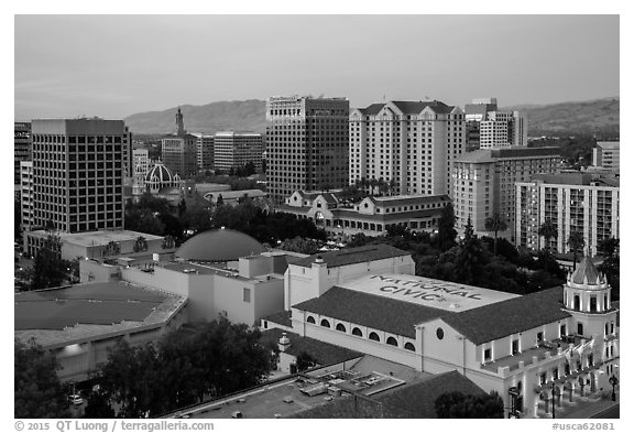
M 459 107 L 389 101 L 350 113 L 350 184 L 392 183 L 393 194 L 449 194 L 451 164 L 464 149 Z

